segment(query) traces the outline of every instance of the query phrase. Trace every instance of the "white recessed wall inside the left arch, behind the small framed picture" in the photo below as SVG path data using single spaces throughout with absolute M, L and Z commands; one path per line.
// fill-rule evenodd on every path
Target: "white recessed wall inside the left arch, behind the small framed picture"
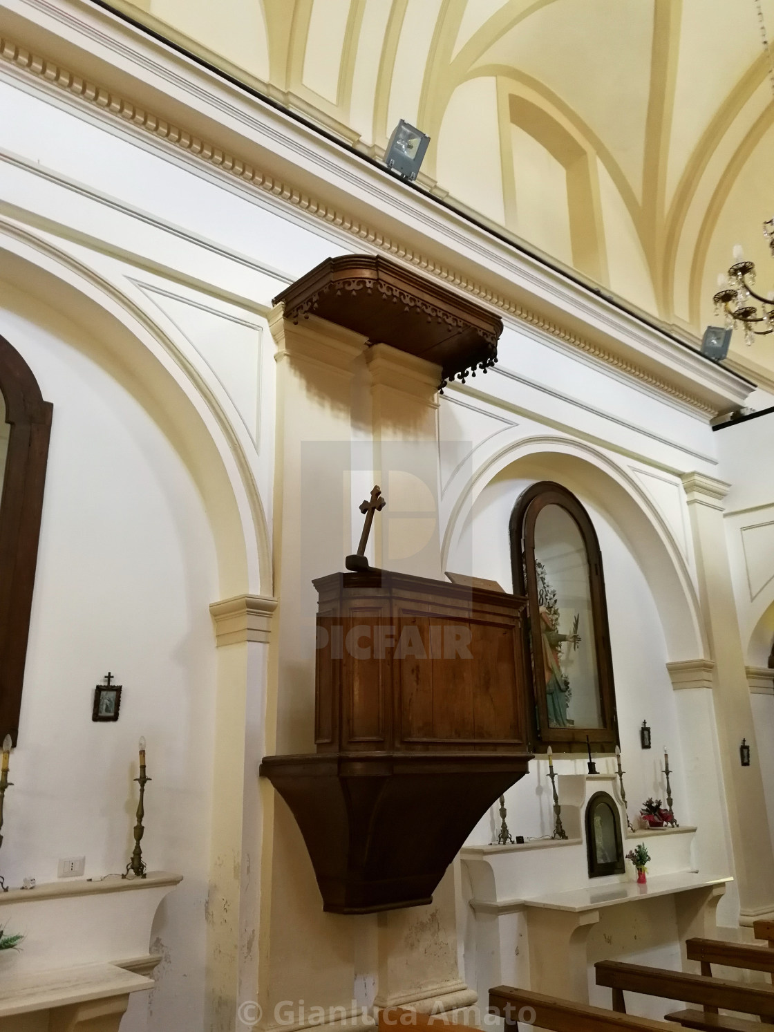
M 148 742 L 143 857 L 183 883 L 162 904 L 154 992 L 122 1032 L 202 1027 L 215 706 L 208 604 L 216 556 L 202 501 L 126 369 L 89 330 L 3 289 L 0 333 L 54 405 L 19 747 L 0 870 L 18 885 L 123 872 L 133 846 L 137 740 Z M 123 685 L 120 719 L 92 722 L 94 686 Z M 19 929 L 19 931 L 24 931 Z

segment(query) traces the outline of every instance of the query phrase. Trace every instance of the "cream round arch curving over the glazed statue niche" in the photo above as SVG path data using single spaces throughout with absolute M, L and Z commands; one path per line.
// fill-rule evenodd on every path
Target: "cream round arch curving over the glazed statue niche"
M 685 557 L 664 516 L 632 474 L 583 442 L 541 436 L 504 445 L 455 492 L 442 546 L 448 568 L 477 498 L 512 469 L 524 480 L 554 480 L 603 513 L 626 543 L 655 600 L 670 660 L 707 656 L 697 591 Z M 504 547 L 508 527 L 504 526 Z

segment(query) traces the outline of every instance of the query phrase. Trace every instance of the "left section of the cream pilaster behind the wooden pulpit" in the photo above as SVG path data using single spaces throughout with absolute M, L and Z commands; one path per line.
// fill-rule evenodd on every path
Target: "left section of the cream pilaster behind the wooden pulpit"
M 312 753 L 317 613 L 312 579 L 343 570 L 350 551 L 352 391 L 365 343 L 315 317 L 294 325 L 283 318 L 282 307 L 272 312 L 269 326 L 278 365 L 273 560 L 279 606 L 265 751 Z M 323 911 L 295 819 L 268 782 L 261 782 L 260 793 L 258 1027 L 292 1032 L 324 1026 L 327 1017 L 322 1015 L 331 1013 L 346 1018 L 348 1028 L 357 1027 L 355 921 Z

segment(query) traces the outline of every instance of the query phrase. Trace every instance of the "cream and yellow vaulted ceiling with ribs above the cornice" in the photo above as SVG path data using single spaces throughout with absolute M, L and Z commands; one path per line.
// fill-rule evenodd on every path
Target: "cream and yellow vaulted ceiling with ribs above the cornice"
M 115 5 L 372 155 L 407 119 L 431 137 L 425 185 L 667 322 L 712 321 L 737 243 L 774 286 L 755 0 Z M 770 375 L 769 338 L 739 336 Z

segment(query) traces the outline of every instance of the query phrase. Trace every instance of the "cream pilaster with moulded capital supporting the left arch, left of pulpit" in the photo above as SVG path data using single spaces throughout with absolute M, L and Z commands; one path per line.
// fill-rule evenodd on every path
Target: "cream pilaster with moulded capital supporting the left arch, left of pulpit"
M 256 998 L 263 711 L 275 599 L 238 595 L 209 607 L 218 645 L 214 806 L 206 903 L 207 1007 L 213 1032 L 233 1032 Z

